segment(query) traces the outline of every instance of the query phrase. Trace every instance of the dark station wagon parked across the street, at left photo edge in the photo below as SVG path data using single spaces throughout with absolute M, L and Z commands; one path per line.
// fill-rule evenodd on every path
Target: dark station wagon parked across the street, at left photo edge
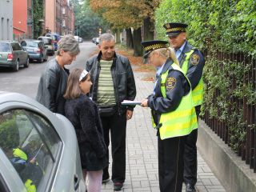
M 0 41 L 0 66 L 18 71 L 19 66 L 28 67 L 29 55 L 18 42 Z

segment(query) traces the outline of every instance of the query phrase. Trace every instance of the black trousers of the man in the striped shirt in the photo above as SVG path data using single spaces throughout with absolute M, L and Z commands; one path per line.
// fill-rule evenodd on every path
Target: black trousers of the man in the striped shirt
M 101 117 L 104 132 L 104 140 L 107 147 L 107 158 L 109 158 L 108 146 L 112 150 L 112 181 L 124 182 L 126 179 L 126 114 L 119 116 L 117 113 L 110 117 Z M 110 177 L 109 167 L 103 170 L 103 179 Z

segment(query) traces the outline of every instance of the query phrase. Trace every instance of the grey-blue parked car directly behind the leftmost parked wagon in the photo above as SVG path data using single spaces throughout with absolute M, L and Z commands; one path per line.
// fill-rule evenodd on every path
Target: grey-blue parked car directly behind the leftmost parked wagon
M 47 61 L 47 46 L 41 40 L 24 39 L 21 45 L 29 54 L 30 62 L 33 60 L 38 62 Z

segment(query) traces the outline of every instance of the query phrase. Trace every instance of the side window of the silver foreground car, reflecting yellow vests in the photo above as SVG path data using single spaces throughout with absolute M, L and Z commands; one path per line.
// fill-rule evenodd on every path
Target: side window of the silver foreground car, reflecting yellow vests
M 51 123 L 29 110 L 0 114 L 0 147 L 28 191 L 45 191 L 62 142 Z

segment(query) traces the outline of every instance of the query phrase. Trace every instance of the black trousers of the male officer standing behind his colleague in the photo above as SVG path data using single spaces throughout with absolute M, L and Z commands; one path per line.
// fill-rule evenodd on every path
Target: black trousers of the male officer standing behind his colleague
M 199 118 L 200 107 L 196 106 L 195 111 Z M 184 152 L 184 182 L 194 186 L 197 182 L 198 154 L 197 154 L 198 129 L 193 130 L 186 138 Z

